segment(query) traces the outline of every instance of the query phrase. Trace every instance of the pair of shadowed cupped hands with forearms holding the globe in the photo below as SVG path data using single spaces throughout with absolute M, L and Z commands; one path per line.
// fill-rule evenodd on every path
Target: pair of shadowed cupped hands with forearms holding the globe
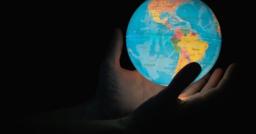
M 77 107 L 26 116 L 20 121 L 26 121 L 26 128 L 32 131 L 136 133 L 166 118 L 177 120 L 179 114 L 189 114 L 215 101 L 234 82 L 238 71 L 238 65 L 232 64 L 224 75 L 222 69 L 215 69 L 211 75 L 192 83 L 201 67 L 198 63 L 190 63 L 169 86 L 160 86 L 138 71 L 120 66 L 122 47 L 123 36 L 121 30 L 116 29 L 100 67 L 96 95 L 91 101 Z

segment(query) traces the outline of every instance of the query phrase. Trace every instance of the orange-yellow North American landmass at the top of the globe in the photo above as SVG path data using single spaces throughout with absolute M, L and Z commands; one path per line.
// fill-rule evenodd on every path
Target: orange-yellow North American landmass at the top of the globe
M 148 10 L 150 11 L 150 16 L 152 16 L 152 18 L 155 22 L 165 25 L 168 18 L 164 18 L 163 20 L 161 20 L 160 14 L 162 12 L 167 12 L 167 11 L 169 11 L 169 12 L 171 12 L 171 14 L 173 14 L 175 9 L 183 1 L 184 0 L 173 0 L 173 2 L 169 1 L 169 0 L 152 0 L 148 4 Z

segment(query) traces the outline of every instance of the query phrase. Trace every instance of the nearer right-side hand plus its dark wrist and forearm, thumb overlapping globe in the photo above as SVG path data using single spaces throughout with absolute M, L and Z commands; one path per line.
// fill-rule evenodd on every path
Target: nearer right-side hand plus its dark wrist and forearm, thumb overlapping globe
M 224 76 L 222 69 L 216 69 L 212 75 L 208 74 L 198 82 L 190 84 L 201 72 L 201 67 L 198 63 L 190 63 L 181 69 L 167 88 L 142 103 L 129 116 L 117 120 L 88 122 L 87 126 L 90 127 L 86 131 L 98 131 L 99 133 L 106 133 L 106 131 L 109 133 L 114 131 L 119 131 L 120 133 L 156 131 L 161 133 L 163 131 L 167 133 L 167 130 L 174 131 L 177 128 L 177 130 L 180 130 L 179 128 L 181 127 L 184 129 L 186 125 L 188 127 L 192 127 L 195 124 L 196 126 L 211 126 L 209 125 L 211 120 L 198 124 L 197 121 L 200 118 L 196 114 L 191 114 L 191 112 L 203 109 L 205 106 L 203 104 L 207 105 L 210 101 L 219 101 L 220 97 L 223 96 L 223 92 L 230 89 L 230 86 L 234 84 L 238 74 L 237 71 L 238 65 L 232 64 L 228 67 Z M 220 107 L 217 107 L 217 109 L 220 109 Z M 215 112 L 201 112 L 200 114 L 207 114 L 208 117 L 216 116 Z M 184 115 L 196 116 L 196 120 L 184 118 Z M 104 131 L 96 129 L 98 127 Z M 198 131 L 198 129 L 196 130 Z

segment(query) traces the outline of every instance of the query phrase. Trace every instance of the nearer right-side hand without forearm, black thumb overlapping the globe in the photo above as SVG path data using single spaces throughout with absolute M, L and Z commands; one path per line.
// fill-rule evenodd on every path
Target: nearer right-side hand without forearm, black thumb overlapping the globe
M 209 106 L 207 105 L 209 102 L 219 101 L 223 97 L 224 92 L 226 90 L 231 91 L 231 86 L 236 84 L 238 65 L 234 63 L 226 69 L 224 76 L 222 69 L 216 69 L 212 75 L 208 74 L 198 80 L 198 82 L 190 84 L 198 76 L 200 70 L 201 68 L 198 63 L 186 65 L 165 90 L 143 103 L 130 116 L 123 118 L 125 126 L 128 126 L 129 130 L 144 131 L 145 129 L 148 130 L 151 126 L 156 129 L 156 126 L 161 124 L 161 122 L 167 121 L 167 126 L 178 124 L 177 126 L 181 127 L 179 123 L 184 122 L 178 123 L 178 120 L 190 121 L 186 117 L 195 116 L 192 113 L 195 110 L 204 109 L 205 106 Z M 221 109 L 221 107 L 217 107 L 217 109 Z M 200 114 L 215 116 L 214 112 L 211 112 L 211 114 L 200 112 Z M 192 122 L 196 123 L 196 120 L 191 120 L 188 125 L 192 126 Z M 202 126 L 203 124 L 197 125 Z M 182 126 L 184 127 L 184 124 Z

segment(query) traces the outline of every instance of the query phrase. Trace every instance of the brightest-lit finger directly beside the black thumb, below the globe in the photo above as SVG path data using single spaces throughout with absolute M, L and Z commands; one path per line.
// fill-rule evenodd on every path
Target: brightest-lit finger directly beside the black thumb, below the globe
M 181 93 L 181 95 L 179 95 L 179 99 L 184 100 L 190 97 L 191 95 L 194 95 L 195 93 L 200 92 L 203 86 L 205 86 L 205 84 L 209 80 L 210 76 L 211 75 L 207 73 L 207 75 L 203 76 L 203 78 L 201 78 L 197 82 L 190 84 L 190 86 L 188 86 L 188 88 L 186 88 L 184 92 Z

